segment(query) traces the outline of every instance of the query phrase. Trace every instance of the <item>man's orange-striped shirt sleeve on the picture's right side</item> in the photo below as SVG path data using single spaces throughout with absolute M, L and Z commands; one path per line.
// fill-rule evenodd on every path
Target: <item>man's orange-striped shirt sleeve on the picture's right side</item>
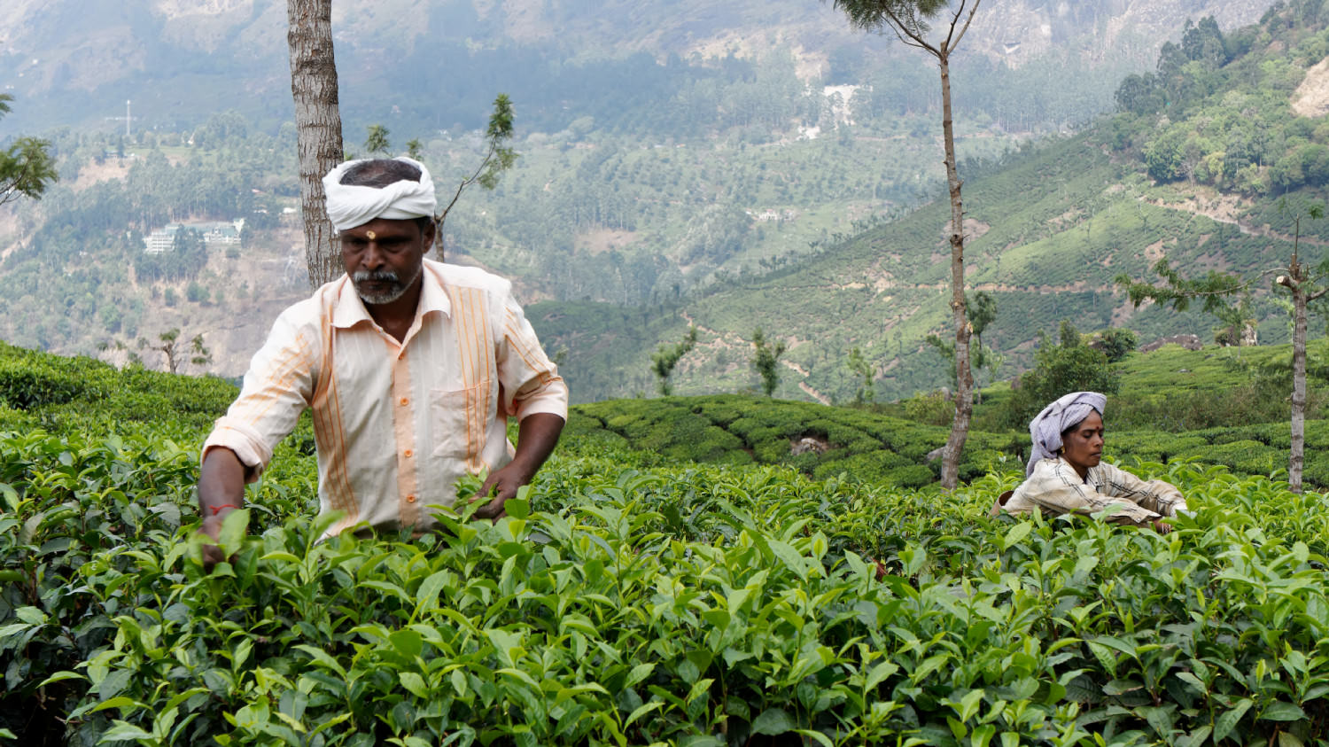
M 518 420 L 537 412 L 567 420 L 567 384 L 512 295 L 504 300 L 502 320 L 497 360 L 502 411 Z

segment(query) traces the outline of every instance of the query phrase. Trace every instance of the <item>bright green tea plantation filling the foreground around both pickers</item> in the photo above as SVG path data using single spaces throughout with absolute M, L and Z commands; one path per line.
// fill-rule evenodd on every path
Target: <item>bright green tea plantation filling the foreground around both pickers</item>
M 1118 452 L 1195 509 L 1159 536 L 989 520 L 1018 433 L 975 433 L 948 496 L 941 428 L 601 403 L 497 524 L 316 544 L 306 424 L 205 576 L 233 393 L 0 348 L 0 744 L 1329 743 L 1329 505 L 1278 465 Z

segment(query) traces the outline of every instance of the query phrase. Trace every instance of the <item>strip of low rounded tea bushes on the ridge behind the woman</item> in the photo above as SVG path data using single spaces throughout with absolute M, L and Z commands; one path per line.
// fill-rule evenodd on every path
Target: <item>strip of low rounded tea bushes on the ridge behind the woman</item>
M 1110 412 L 1111 403 L 1110 403 Z M 908 409 L 908 408 L 906 408 Z M 1108 419 L 1107 453 L 1143 461 L 1223 464 L 1239 475 L 1286 471 L 1289 428 L 1285 421 L 1188 431 L 1119 431 Z M 573 408 L 567 424 L 573 441 L 626 445 L 659 453 L 667 461 L 712 464 L 780 464 L 825 477 L 844 472 L 855 479 L 900 488 L 921 488 L 940 479 L 941 463 L 928 455 L 945 444 L 949 427 L 937 427 L 852 407 L 771 400 L 744 395 L 611 400 Z M 795 455 L 804 437 L 824 451 Z M 1232 447 L 1233 441 L 1248 441 Z M 1017 469 L 1029 453 L 1023 431 L 970 431 L 960 464 L 961 480 L 997 469 Z M 1329 425 L 1306 421 L 1304 479 L 1329 486 Z

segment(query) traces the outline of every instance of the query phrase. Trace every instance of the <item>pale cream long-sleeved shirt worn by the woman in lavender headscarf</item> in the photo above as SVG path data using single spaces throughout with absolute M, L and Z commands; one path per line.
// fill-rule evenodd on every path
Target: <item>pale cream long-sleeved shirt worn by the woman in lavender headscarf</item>
M 1185 497 L 1162 480 L 1140 480 L 1107 463 L 1090 467 L 1082 480 L 1061 457 L 1042 459 L 1003 506 L 1010 513 L 1092 514 L 1111 509 L 1108 521 L 1148 525 L 1155 518 L 1185 510 Z

